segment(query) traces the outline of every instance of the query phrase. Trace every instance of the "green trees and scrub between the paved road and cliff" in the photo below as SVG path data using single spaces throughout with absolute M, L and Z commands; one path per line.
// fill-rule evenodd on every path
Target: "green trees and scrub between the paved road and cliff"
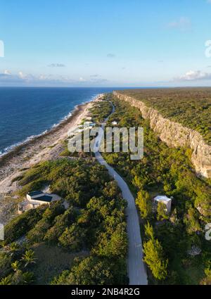
M 143 120 L 139 109 L 115 97 L 112 101 L 115 113 L 108 126 L 117 120 L 119 127 L 144 129 L 143 159 L 130 160 L 130 153 L 103 153 L 103 158 L 124 177 L 136 197 L 150 283 L 200 284 L 211 258 L 204 233 L 205 224 L 211 222 L 211 182 L 196 177 L 189 149 L 168 148 L 150 129 L 148 120 Z M 162 205 L 153 210 L 152 199 L 158 194 L 173 196 L 170 215 Z M 153 232 L 142 229 L 147 221 Z M 202 250 L 200 255 L 188 255 L 192 246 Z

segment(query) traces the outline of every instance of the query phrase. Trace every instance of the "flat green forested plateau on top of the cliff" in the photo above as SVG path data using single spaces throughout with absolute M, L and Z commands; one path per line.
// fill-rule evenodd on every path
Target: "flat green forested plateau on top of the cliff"
M 120 94 L 143 101 L 164 117 L 198 131 L 211 145 L 211 89 L 126 89 Z

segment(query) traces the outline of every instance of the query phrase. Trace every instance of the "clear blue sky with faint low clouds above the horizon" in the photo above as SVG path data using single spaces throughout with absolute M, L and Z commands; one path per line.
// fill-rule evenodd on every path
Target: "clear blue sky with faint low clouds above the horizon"
M 0 86 L 211 85 L 211 0 L 1 0 L 0 39 Z

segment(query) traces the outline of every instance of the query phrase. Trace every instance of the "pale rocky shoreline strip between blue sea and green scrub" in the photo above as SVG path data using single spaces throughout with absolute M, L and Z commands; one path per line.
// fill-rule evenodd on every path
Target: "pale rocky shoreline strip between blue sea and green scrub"
M 97 101 L 97 96 L 94 101 Z M 42 160 L 58 158 L 63 151 L 63 141 L 68 137 L 68 130 L 79 125 L 89 115 L 89 108 L 94 101 L 84 103 L 75 108 L 72 115 L 46 134 L 37 136 L 0 158 L 0 195 L 12 194 L 18 190 L 15 177 L 27 168 Z

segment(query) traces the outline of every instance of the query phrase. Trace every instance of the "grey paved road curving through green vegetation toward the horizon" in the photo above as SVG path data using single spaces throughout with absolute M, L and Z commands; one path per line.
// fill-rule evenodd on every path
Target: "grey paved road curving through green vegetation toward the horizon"
M 113 106 L 112 113 L 114 111 L 115 111 L 115 107 Z M 107 120 L 108 118 L 106 118 L 105 122 L 102 125 L 103 130 Z M 97 147 L 101 143 L 101 139 L 102 139 L 102 135 L 99 135 L 96 138 L 95 144 L 97 144 Z M 142 251 L 142 242 L 141 242 L 141 234 L 140 234 L 140 227 L 139 227 L 139 217 L 136 210 L 134 197 L 132 196 L 132 193 L 129 190 L 127 184 L 124 182 L 124 179 L 122 179 L 122 177 L 120 177 L 120 175 L 117 174 L 117 172 L 115 172 L 113 167 L 110 167 L 110 165 L 106 163 L 106 161 L 103 159 L 99 151 L 95 153 L 95 157 L 98 160 L 98 162 L 101 163 L 101 165 L 106 166 L 110 176 L 113 177 L 117 182 L 118 186 L 120 186 L 123 198 L 127 200 L 127 209 L 126 209 L 127 236 L 129 239 L 129 253 L 128 253 L 128 260 L 127 260 L 127 267 L 128 267 L 128 275 L 129 275 L 129 284 L 146 285 L 148 284 L 148 281 L 147 281 L 146 269 L 143 265 L 143 260 L 142 260 L 143 251 Z

